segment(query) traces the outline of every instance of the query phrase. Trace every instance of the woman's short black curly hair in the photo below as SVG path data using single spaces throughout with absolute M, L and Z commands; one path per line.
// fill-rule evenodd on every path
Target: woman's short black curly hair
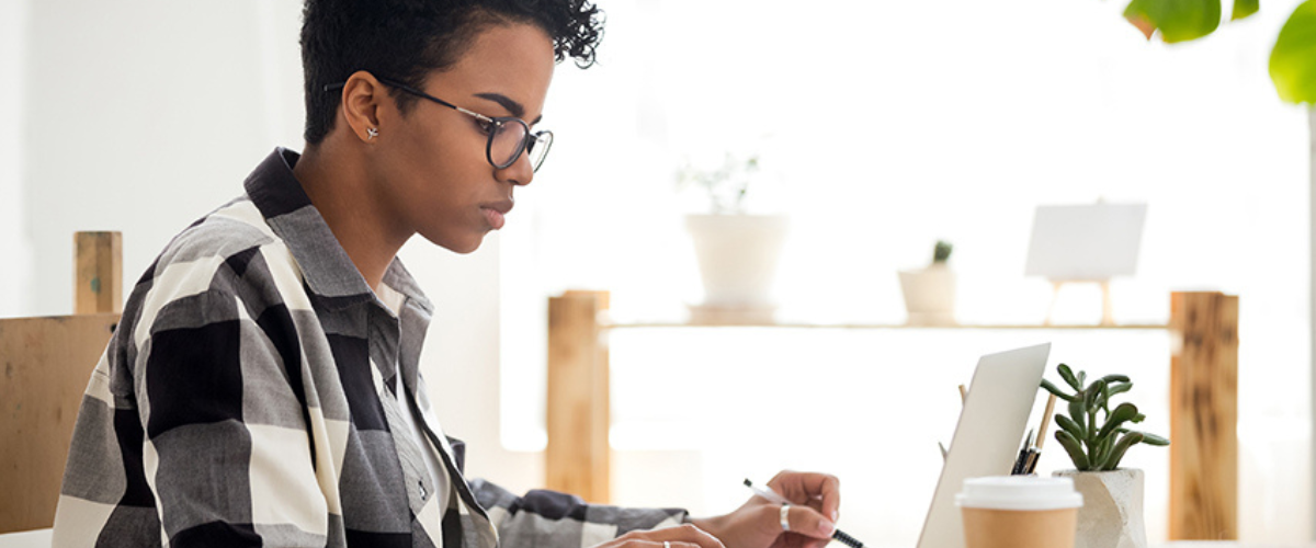
M 301 20 L 308 145 L 333 129 L 340 93 L 325 85 L 357 71 L 421 87 L 455 63 L 484 29 L 530 24 L 553 38 L 558 62 L 584 68 L 603 38 L 603 11 L 590 0 L 307 0 Z M 405 114 L 416 97 L 391 93 Z

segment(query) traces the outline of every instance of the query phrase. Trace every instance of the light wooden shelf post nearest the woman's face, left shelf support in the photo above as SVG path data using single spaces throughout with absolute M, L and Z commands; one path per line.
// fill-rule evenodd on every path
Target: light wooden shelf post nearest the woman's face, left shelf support
M 547 488 L 594 503 L 611 499 L 608 350 L 599 315 L 608 292 L 549 300 Z

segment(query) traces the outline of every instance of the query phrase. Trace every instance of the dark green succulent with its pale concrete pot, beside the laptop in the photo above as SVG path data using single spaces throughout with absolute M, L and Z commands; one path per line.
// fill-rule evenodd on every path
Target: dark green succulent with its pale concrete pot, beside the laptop
M 1074 547 L 1146 547 L 1142 470 L 1120 468 L 1120 461 L 1133 445 L 1169 445 L 1170 440 L 1128 428 L 1145 418 L 1136 405 L 1124 402 L 1111 409 L 1111 398 L 1133 388 L 1128 376 L 1107 375 L 1087 382 L 1086 372 L 1075 375 L 1069 365 L 1059 364 L 1057 372 L 1074 393 L 1045 378 L 1042 388 L 1069 403 L 1055 413 L 1055 442 L 1069 453 L 1074 469 L 1054 474 L 1073 478 L 1083 494 Z

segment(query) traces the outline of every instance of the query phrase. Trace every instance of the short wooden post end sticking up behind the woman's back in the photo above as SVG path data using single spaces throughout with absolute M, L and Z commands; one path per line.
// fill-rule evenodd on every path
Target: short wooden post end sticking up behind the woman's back
M 124 311 L 124 237 L 120 233 L 76 233 L 74 313 Z

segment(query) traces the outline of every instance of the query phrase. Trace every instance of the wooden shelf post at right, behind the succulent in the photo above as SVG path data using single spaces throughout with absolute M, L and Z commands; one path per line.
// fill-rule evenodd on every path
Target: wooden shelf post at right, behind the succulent
M 1238 297 L 1174 293 L 1170 540 L 1238 539 Z

